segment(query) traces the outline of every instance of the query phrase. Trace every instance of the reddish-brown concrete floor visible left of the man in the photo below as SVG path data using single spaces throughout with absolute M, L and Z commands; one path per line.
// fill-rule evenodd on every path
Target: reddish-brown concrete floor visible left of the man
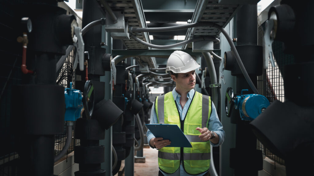
M 134 176 L 154 176 L 158 175 L 158 150 L 147 148 L 148 146 L 144 146 L 143 148 L 143 156 L 145 156 L 145 163 L 134 163 Z M 122 160 L 120 171 L 124 168 L 124 161 Z M 118 176 L 117 173 L 114 176 Z M 120 174 L 121 175 L 121 174 Z M 124 176 L 124 172 L 122 174 Z

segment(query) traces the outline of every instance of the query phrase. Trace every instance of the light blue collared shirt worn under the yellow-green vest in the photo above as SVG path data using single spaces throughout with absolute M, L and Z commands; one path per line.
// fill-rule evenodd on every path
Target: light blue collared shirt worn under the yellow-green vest
M 191 91 L 189 91 L 187 93 L 188 100 L 187 100 L 187 102 L 185 103 L 185 105 L 184 105 L 184 107 L 182 109 L 182 108 L 179 108 L 179 107 L 181 107 L 181 104 L 180 104 L 180 97 L 181 97 L 181 95 L 179 95 L 178 92 L 176 92 L 176 88 L 174 88 L 172 90 L 172 95 L 173 95 L 174 100 L 176 101 L 176 104 L 178 105 L 178 110 L 179 110 L 179 114 L 180 114 L 181 120 L 183 120 L 183 118 L 185 117 L 185 114 L 187 113 L 187 109 L 189 108 L 189 106 L 191 104 L 191 101 L 192 101 L 194 93 L 195 93 L 194 89 L 192 89 Z M 155 111 L 155 102 L 154 102 L 154 104 L 152 106 L 152 110 L 150 112 L 150 124 L 154 124 L 154 123 L 158 123 L 158 119 L 157 119 L 157 115 L 156 115 L 156 111 Z M 216 108 L 215 108 L 213 103 L 212 103 L 212 112 L 211 112 L 211 115 L 210 115 L 210 118 L 209 118 L 209 121 L 208 121 L 208 130 L 209 131 L 214 131 L 219 136 L 219 142 L 217 144 L 214 144 L 214 143 L 209 141 L 210 144 L 213 147 L 218 147 L 219 145 L 221 145 L 224 142 L 224 140 L 225 140 L 225 131 L 223 130 L 222 124 L 219 121 L 219 118 L 218 118 L 218 115 L 217 115 L 217 111 L 216 111 Z M 150 130 L 147 130 L 146 136 L 147 136 L 148 144 L 149 144 L 149 141 L 153 137 L 155 137 L 150 132 Z M 150 144 L 149 144 L 149 146 L 151 148 L 154 148 Z M 180 164 L 180 167 L 178 168 L 178 170 L 176 170 L 176 172 L 174 172 L 174 173 L 167 174 L 167 173 L 164 173 L 162 170 L 160 170 L 160 171 L 165 176 L 192 176 L 192 175 L 190 175 L 190 174 L 185 172 L 182 163 Z M 198 175 L 193 175 L 193 176 L 202 176 L 204 174 L 205 174 L 205 172 L 204 173 L 200 173 Z

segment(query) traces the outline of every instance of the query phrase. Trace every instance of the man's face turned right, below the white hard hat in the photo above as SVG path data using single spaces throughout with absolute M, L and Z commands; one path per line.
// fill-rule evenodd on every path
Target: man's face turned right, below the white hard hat
M 195 87 L 195 70 L 187 73 L 178 73 L 177 76 L 171 75 L 176 87 L 182 91 L 190 91 Z

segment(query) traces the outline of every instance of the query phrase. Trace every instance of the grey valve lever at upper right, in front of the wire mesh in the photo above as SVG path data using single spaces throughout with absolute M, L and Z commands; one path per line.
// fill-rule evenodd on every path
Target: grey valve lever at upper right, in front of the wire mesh
M 264 69 L 268 68 L 269 60 L 272 64 L 272 67 L 275 67 L 272 43 L 273 43 L 273 19 L 266 20 L 265 23 L 265 33 L 263 37 L 263 55 L 264 55 Z

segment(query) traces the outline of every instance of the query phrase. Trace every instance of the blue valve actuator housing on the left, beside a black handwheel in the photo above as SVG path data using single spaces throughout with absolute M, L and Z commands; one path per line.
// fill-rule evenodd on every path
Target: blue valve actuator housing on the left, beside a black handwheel
M 72 82 L 70 82 L 70 87 L 72 87 Z M 65 88 L 64 98 L 66 105 L 64 120 L 76 121 L 81 116 L 83 109 L 82 92 L 76 89 Z

